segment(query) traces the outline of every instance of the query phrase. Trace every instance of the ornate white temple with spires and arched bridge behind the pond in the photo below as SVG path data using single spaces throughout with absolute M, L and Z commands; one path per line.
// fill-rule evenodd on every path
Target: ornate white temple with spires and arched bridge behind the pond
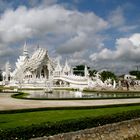
M 66 60 L 64 66 L 52 61 L 48 51 L 39 48 L 29 55 L 27 44 L 25 43 L 23 55 L 19 56 L 16 62 L 16 68 L 11 71 L 9 62 L 6 63 L 3 72 L 3 83 L 6 86 L 17 86 L 20 88 L 45 88 L 45 87 L 70 87 L 70 88 L 89 88 L 103 86 L 99 75 L 94 79 L 89 77 L 87 66 L 85 66 L 84 76 L 76 76 L 73 69 Z

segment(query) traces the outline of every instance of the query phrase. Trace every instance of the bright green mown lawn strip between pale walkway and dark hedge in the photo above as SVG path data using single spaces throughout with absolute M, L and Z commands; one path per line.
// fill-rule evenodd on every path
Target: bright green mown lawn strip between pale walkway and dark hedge
M 111 107 L 98 109 L 71 109 L 71 110 L 46 110 L 26 113 L 0 114 L 0 128 L 15 128 L 39 124 L 43 122 L 55 122 L 84 117 L 98 117 L 118 114 L 124 111 L 139 110 L 140 106 Z

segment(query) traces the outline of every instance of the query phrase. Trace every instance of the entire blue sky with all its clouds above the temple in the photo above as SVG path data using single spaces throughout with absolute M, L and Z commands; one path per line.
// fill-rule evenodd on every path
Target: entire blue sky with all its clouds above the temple
M 46 48 L 71 65 L 127 73 L 140 63 L 139 0 L 0 0 L 0 67 Z M 15 53 L 16 52 L 16 53 Z

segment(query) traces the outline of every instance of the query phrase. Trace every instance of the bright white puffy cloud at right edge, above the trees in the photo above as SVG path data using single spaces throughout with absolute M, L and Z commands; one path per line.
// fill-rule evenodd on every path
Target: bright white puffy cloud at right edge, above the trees
M 132 69 L 134 65 L 139 64 L 140 60 L 140 34 L 133 34 L 129 38 L 119 38 L 116 40 L 115 49 L 103 48 L 100 52 L 90 55 L 90 59 L 101 65 L 111 67 L 113 65 L 118 71 Z M 119 68 L 122 69 L 119 69 Z

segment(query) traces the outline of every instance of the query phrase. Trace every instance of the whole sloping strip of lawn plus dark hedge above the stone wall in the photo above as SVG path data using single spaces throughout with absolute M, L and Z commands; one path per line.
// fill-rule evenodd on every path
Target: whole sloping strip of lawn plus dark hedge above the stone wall
M 1 112 L 0 112 L 1 113 Z M 2 112 L 1 139 L 29 139 L 140 117 L 140 106 Z

